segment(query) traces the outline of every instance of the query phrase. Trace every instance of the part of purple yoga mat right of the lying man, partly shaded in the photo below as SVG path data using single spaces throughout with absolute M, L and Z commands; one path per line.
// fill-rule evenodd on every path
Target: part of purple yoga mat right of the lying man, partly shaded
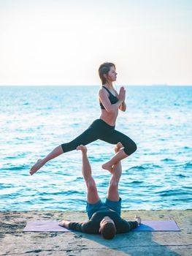
M 180 231 L 174 220 L 142 220 L 133 231 Z

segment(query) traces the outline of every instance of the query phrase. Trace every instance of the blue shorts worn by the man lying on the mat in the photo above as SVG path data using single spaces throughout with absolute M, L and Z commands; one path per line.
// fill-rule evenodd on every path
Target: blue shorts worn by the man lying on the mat
M 120 210 L 121 210 L 121 198 L 119 198 L 118 201 L 112 201 L 106 198 L 105 203 L 102 203 L 101 200 L 99 200 L 97 203 L 88 203 L 86 206 L 86 211 L 88 214 L 88 219 L 91 219 L 92 215 L 96 211 L 104 210 L 104 209 L 111 209 L 113 211 L 116 211 L 117 214 L 120 216 Z

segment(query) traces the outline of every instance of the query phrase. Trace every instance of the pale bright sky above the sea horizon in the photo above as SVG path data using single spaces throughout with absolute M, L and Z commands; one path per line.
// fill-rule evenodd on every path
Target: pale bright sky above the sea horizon
M 0 0 L 0 86 L 192 85 L 191 0 Z

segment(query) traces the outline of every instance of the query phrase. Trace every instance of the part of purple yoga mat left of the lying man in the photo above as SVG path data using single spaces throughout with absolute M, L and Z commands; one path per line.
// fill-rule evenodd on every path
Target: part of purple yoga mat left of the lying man
M 69 232 L 65 227 L 58 225 L 57 221 L 42 220 L 39 222 L 27 222 L 23 231 L 37 231 L 37 232 Z

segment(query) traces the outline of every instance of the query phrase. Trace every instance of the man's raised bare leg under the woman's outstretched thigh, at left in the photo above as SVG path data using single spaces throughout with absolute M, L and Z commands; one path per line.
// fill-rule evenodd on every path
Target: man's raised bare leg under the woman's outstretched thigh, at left
M 87 200 L 88 203 L 97 203 L 100 198 L 96 189 L 96 183 L 91 175 L 91 165 L 87 156 L 87 148 L 85 146 L 77 146 L 77 150 L 82 151 L 82 176 L 85 179 L 87 185 L 88 193 Z

